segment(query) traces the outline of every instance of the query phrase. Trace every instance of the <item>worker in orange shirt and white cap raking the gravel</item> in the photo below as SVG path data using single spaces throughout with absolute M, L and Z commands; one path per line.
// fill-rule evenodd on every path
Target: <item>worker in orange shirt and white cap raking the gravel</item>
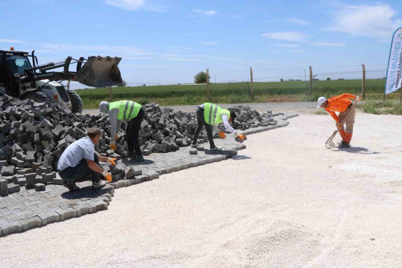
M 342 95 L 326 99 L 325 97 L 318 98 L 317 109 L 325 108 L 325 110 L 336 121 L 336 127 L 339 134 L 342 137 L 342 141 L 339 143 L 339 148 L 349 148 L 353 135 L 353 124 L 355 123 L 355 106 L 352 106 L 350 99 L 360 100 L 359 96 L 353 94 L 344 93 Z M 339 112 L 339 116 L 335 112 Z M 346 131 L 343 124 L 346 123 Z

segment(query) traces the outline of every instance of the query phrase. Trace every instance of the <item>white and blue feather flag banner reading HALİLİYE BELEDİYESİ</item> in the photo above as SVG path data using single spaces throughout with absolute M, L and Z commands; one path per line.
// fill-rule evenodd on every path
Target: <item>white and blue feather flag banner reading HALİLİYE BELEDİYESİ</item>
M 402 80 L 402 27 L 392 35 L 390 58 L 388 59 L 385 94 L 401 88 Z

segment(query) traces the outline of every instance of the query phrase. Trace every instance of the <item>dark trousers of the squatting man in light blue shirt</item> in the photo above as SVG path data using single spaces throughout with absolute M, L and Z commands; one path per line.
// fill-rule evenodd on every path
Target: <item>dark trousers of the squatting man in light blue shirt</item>
M 94 162 L 99 165 L 99 157 L 96 154 L 94 154 Z M 66 167 L 60 171 L 59 175 L 64 181 L 78 181 L 89 177 L 93 182 L 98 182 L 102 174 L 90 169 L 86 163 L 86 159 L 82 159 L 75 167 Z

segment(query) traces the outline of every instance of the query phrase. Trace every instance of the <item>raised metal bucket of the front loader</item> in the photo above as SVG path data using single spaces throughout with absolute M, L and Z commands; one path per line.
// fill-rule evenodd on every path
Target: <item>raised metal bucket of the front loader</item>
M 119 64 L 121 58 L 90 56 L 78 70 L 76 80 L 88 87 L 109 87 L 121 85 L 123 80 Z

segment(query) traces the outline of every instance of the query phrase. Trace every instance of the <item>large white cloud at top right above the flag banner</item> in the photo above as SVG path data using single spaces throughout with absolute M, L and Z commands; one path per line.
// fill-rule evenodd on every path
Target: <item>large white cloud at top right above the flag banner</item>
M 352 35 L 391 38 L 392 33 L 402 25 L 396 19 L 396 11 L 386 4 L 375 6 L 347 6 L 336 11 L 333 31 Z

